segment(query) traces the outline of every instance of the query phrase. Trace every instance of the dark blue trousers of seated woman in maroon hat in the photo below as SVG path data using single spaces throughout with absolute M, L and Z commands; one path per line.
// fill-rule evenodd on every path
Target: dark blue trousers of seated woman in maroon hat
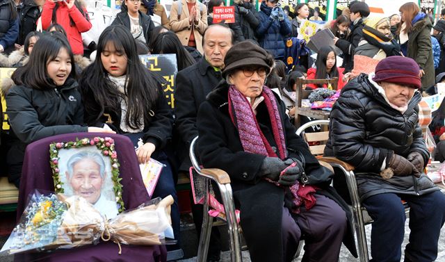
M 435 191 L 426 195 L 385 193 L 364 200 L 373 218 L 371 261 L 401 261 L 401 245 L 405 234 L 405 208 L 410 205 L 410 242 L 405 247 L 405 261 L 435 261 L 440 229 L 445 221 L 445 195 Z

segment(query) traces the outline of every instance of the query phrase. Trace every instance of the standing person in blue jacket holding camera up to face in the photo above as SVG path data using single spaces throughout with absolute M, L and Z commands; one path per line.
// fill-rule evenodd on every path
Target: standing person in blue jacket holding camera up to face
M 256 32 L 260 47 L 273 54 L 276 60 L 284 60 L 286 54 L 284 38 L 291 33 L 291 23 L 278 4 L 278 0 L 263 1 L 257 18 L 259 26 Z

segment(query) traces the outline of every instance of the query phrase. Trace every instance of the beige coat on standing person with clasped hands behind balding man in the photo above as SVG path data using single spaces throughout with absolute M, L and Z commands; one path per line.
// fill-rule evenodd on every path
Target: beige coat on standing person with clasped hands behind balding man
M 178 17 L 179 1 L 181 1 L 182 4 L 180 17 Z M 172 9 L 170 10 L 170 29 L 176 33 L 183 45 L 187 45 L 193 27 L 196 49 L 200 51 L 201 54 L 204 54 L 204 50 L 202 49 L 202 34 L 204 34 L 204 30 L 207 28 L 207 6 L 200 3 L 198 0 L 195 1 L 196 15 L 198 19 L 197 24 L 190 24 L 188 22 L 190 14 L 188 13 L 186 0 L 178 0 L 173 2 Z M 202 5 L 202 8 L 200 8 L 200 5 Z

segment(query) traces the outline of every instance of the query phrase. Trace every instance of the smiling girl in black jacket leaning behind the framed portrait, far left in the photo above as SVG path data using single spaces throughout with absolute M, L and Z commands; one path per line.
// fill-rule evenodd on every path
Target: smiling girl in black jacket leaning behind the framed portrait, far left
M 31 142 L 62 133 L 114 133 L 83 125 L 83 104 L 73 67 L 74 57 L 65 36 L 44 35 L 35 43 L 29 62 L 11 76 L 15 85 L 2 90 L 13 131 L 6 160 L 9 181 L 17 188 L 25 148 Z

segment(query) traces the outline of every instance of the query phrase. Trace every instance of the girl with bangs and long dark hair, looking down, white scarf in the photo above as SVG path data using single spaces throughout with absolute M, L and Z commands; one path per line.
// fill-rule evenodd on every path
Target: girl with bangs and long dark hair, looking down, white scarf
M 172 195 L 172 224 L 179 239 L 179 208 L 175 182 L 163 147 L 172 134 L 173 118 L 161 81 L 140 62 L 136 42 L 124 26 L 108 26 L 97 43 L 97 56 L 79 79 L 85 121 L 108 126 L 129 136 L 138 161 L 165 164 L 152 197 Z

